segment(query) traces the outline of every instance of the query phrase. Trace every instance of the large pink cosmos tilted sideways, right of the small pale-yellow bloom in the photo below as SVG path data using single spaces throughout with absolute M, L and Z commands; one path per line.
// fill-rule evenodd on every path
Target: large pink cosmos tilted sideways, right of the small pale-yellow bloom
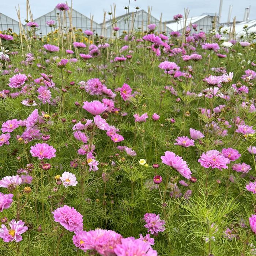
M 191 178 L 191 171 L 187 165 L 187 162 L 184 161 L 180 156 L 176 156 L 173 152 L 166 151 L 165 155 L 161 156 L 162 163 L 169 165 L 176 169 L 183 177 L 189 179 Z

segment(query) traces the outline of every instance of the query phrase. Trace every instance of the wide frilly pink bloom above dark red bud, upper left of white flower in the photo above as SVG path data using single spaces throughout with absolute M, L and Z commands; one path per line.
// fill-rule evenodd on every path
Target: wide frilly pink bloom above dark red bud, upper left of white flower
M 56 157 L 55 152 L 56 149 L 53 148 L 53 146 L 49 146 L 47 143 L 37 143 L 35 146 L 30 147 L 32 157 L 38 157 L 40 160 L 44 158 L 51 159 L 52 157 Z

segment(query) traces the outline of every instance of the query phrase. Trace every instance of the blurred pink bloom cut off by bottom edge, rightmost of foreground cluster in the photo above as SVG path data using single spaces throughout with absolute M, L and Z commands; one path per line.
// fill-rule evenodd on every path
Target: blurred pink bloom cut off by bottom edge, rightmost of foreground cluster
M 153 250 L 149 243 L 134 237 L 121 239 L 121 244 L 118 244 L 114 249 L 117 256 L 157 256 L 157 251 Z

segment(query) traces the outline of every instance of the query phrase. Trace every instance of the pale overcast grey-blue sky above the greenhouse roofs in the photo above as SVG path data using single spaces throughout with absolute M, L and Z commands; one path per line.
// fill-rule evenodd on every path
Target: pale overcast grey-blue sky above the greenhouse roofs
M 20 5 L 20 15 L 26 18 L 26 0 L 0 0 L 0 12 L 17 20 L 15 6 Z M 54 9 L 57 3 L 63 1 L 58 0 L 30 0 L 30 7 L 33 18 L 46 14 Z M 129 0 L 116 0 L 116 16 L 125 14 L 124 6 L 128 5 Z M 114 0 L 73 0 L 73 8 L 90 18 L 90 14 L 94 15 L 94 21 L 103 22 L 103 10 L 110 11 L 110 5 Z M 71 0 L 68 0 L 71 4 Z M 227 21 L 229 5 L 233 5 L 231 19 L 236 16 L 236 20 L 243 20 L 246 7 L 251 5 L 250 20 L 256 19 L 256 0 L 223 0 L 221 22 Z M 151 14 L 159 19 L 162 12 L 162 20 L 171 20 L 173 15 L 184 14 L 184 8 L 189 8 L 189 16 L 199 16 L 203 13 L 215 13 L 219 11 L 219 0 L 131 0 L 131 10 L 135 10 L 135 6 L 139 6 L 140 10 L 147 11 L 147 7 L 152 6 Z M 108 17 L 107 17 L 108 18 Z M 22 23 L 23 20 L 22 20 Z

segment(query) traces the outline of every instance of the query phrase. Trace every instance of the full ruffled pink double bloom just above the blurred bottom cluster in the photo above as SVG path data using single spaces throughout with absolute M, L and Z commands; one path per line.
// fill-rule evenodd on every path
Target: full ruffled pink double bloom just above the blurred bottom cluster
M 74 207 L 64 205 L 52 212 L 55 222 L 73 232 L 83 229 L 83 216 Z

